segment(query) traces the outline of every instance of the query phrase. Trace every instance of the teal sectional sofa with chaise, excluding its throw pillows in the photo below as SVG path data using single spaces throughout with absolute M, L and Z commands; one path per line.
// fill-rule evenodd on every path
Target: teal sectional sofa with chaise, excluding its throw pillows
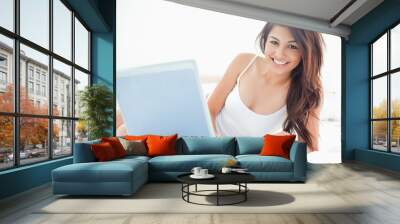
M 218 172 L 230 159 L 237 160 L 259 182 L 306 180 L 306 145 L 300 142 L 294 142 L 290 159 L 285 159 L 258 155 L 262 137 L 181 137 L 177 155 L 96 162 L 90 145 L 98 142 L 75 144 L 74 163 L 52 171 L 54 194 L 131 195 L 148 181 L 176 181 L 178 175 L 196 166 Z

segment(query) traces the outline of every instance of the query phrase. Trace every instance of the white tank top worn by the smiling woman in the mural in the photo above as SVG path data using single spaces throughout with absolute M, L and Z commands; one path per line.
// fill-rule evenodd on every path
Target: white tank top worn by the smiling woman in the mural
M 236 85 L 225 100 L 225 105 L 216 118 L 216 129 L 222 136 L 254 136 L 283 131 L 287 117 L 286 105 L 268 115 L 258 114 L 247 107 L 240 98 L 239 82 L 242 75 L 256 61 L 257 55 L 239 74 Z

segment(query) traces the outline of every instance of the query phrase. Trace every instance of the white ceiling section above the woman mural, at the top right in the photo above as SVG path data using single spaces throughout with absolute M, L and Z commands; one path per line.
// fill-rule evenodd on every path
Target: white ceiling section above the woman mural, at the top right
M 383 0 L 168 1 L 346 38 L 350 35 L 352 24 L 383 2 Z

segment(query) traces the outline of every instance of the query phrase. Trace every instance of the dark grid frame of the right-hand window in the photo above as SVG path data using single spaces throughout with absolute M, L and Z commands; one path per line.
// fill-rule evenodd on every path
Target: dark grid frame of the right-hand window
M 385 29 L 384 32 L 379 34 L 375 39 L 373 39 L 369 44 L 369 149 L 373 151 L 380 151 L 380 152 L 386 152 L 386 153 L 391 153 L 391 154 L 400 154 L 400 152 L 393 152 L 392 151 L 392 122 L 393 121 L 400 121 L 400 117 L 393 117 L 392 116 L 392 85 L 391 85 L 391 80 L 392 76 L 396 75 L 396 73 L 400 72 L 400 67 L 393 68 L 391 69 L 391 31 L 395 27 L 400 26 L 400 21 L 397 21 L 396 23 L 392 24 L 389 28 Z M 386 71 L 382 72 L 380 74 L 373 74 L 373 66 L 374 66 L 374 61 L 373 61 L 373 44 L 376 43 L 381 37 L 384 35 L 387 35 L 387 51 L 386 51 L 386 56 L 387 56 L 387 63 L 386 63 Z M 374 87 L 373 87 L 373 82 L 376 79 L 386 77 L 386 87 L 387 87 L 387 92 L 386 92 L 386 117 L 385 118 L 373 118 L 373 93 L 374 93 Z M 374 133 L 373 133 L 373 122 L 376 121 L 386 121 L 386 151 L 384 150 L 379 150 L 374 148 Z

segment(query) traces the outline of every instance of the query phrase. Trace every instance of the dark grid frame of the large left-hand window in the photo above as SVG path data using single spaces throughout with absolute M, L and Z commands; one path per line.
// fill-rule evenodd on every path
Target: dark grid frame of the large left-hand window
M 46 49 L 45 47 L 42 47 L 39 44 L 34 43 L 33 41 L 30 41 L 27 38 L 24 38 L 23 36 L 20 35 L 20 0 L 14 0 L 13 1 L 13 10 L 14 10 L 14 30 L 10 31 L 4 27 L 0 26 L 0 35 L 3 35 L 5 37 L 11 38 L 13 41 L 13 60 L 12 60 L 12 69 L 11 69 L 11 75 L 13 75 L 14 79 L 14 110 L 13 112 L 1 112 L 0 111 L 0 116 L 4 117 L 11 117 L 13 119 L 13 155 L 14 155 L 14 161 L 13 161 L 13 166 L 10 167 L 5 167 L 5 168 L 0 168 L 0 172 L 5 171 L 5 170 L 10 170 L 10 169 L 16 169 L 19 167 L 23 166 L 29 166 L 37 163 L 43 163 L 49 160 L 54 160 L 54 159 L 62 159 L 65 157 L 70 157 L 73 156 L 74 154 L 74 143 L 75 143 L 75 126 L 76 126 L 76 121 L 79 120 L 79 117 L 75 116 L 75 108 L 72 107 L 72 113 L 68 116 L 56 116 L 53 115 L 53 60 L 58 60 L 59 62 L 62 62 L 68 66 L 71 67 L 71 83 L 75 82 L 75 69 L 85 73 L 89 77 L 89 83 L 88 86 L 92 85 L 92 71 L 91 71 L 91 52 L 92 52 L 92 45 L 91 45 L 91 36 L 92 36 L 92 30 L 88 27 L 88 25 L 83 21 L 83 19 L 76 13 L 72 7 L 65 1 L 65 0 L 59 0 L 69 11 L 71 11 L 71 18 L 70 23 L 71 23 L 71 58 L 67 59 L 64 58 L 63 56 L 57 54 L 54 52 L 54 39 L 53 39 L 53 33 L 54 33 L 54 15 L 53 15 L 53 1 L 54 0 L 48 0 L 49 3 L 49 47 Z M 81 67 L 80 65 L 75 63 L 75 18 L 79 20 L 79 22 L 83 25 L 83 27 L 88 31 L 88 69 L 85 69 Z M 21 57 L 20 57 L 20 45 L 23 44 L 27 47 L 32 48 L 33 50 L 36 50 L 40 53 L 43 53 L 48 56 L 49 58 L 49 63 L 48 63 L 48 71 L 47 71 L 47 84 L 45 85 L 45 90 L 48 93 L 45 93 L 46 96 L 48 97 L 48 107 L 49 110 L 46 115 L 39 115 L 39 114 L 26 114 L 26 113 L 21 113 L 20 111 L 20 64 L 21 64 Z M 27 71 L 30 71 L 31 67 L 29 64 L 27 64 Z M 26 82 L 32 81 L 35 86 L 36 83 L 40 83 L 42 87 L 42 79 L 41 79 L 41 74 L 43 70 L 39 73 L 39 80 L 36 80 L 36 69 L 34 68 L 33 71 L 33 79 L 31 79 L 30 73 L 27 72 L 25 74 L 26 76 Z M 28 84 L 27 84 L 28 85 Z M 26 86 L 28 87 L 28 86 Z M 29 88 L 29 87 L 28 87 Z M 35 87 L 34 87 L 35 88 Z M 72 99 L 71 99 L 71 104 L 74 105 L 75 103 L 75 88 L 74 85 L 71 86 L 71 93 L 72 93 Z M 27 89 L 27 91 L 29 91 Z M 36 89 L 34 89 L 34 92 L 36 92 Z M 41 91 L 40 91 L 41 93 Z M 42 94 L 39 94 L 38 96 L 42 96 Z M 71 142 L 70 142 L 70 148 L 71 148 L 71 153 L 68 155 L 62 155 L 62 156 L 55 156 L 53 155 L 54 153 L 54 147 L 53 144 L 48 144 L 47 149 L 48 150 L 48 155 L 47 157 L 44 157 L 43 160 L 40 160 L 38 162 L 32 162 L 32 163 L 26 163 L 26 164 L 21 164 L 20 161 L 20 119 L 21 118 L 45 118 L 47 119 L 48 122 L 48 135 L 47 135 L 47 142 L 52 143 L 53 142 L 53 123 L 56 120 L 66 120 L 71 122 Z

